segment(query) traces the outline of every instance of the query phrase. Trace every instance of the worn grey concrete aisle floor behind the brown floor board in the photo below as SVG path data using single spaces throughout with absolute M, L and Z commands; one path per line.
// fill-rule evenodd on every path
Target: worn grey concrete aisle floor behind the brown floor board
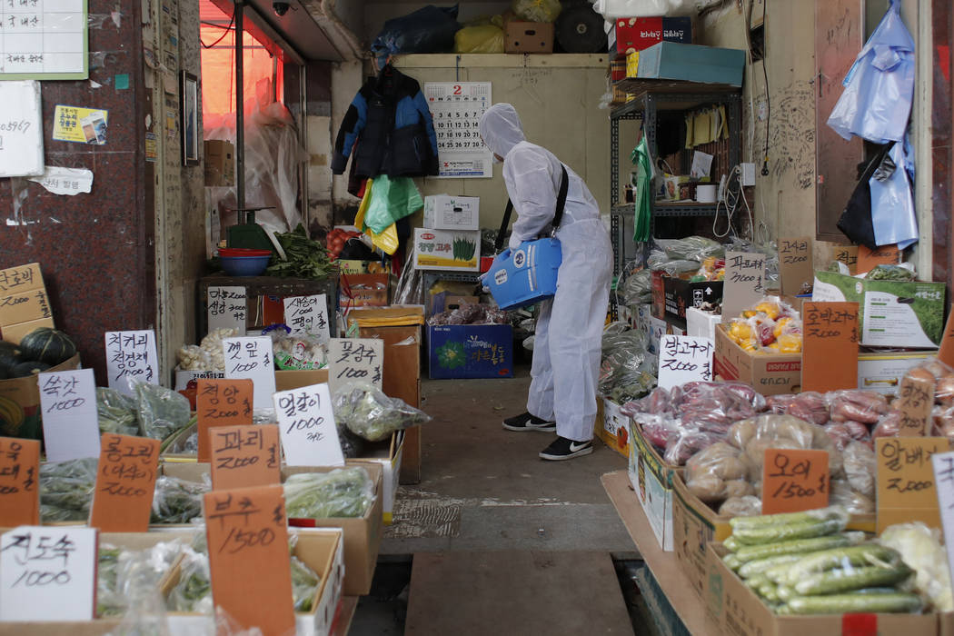
M 625 459 L 594 440 L 587 457 L 540 460 L 555 434 L 501 426 L 526 410 L 529 369 L 515 375 L 422 380 L 422 409 L 433 418 L 422 431 L 422 481 L 398 490 L 376 589 L 358 605 L 351 636 L 403 633 L 415 553 L 592 551 L 638 559 L 599 480 L 625 468 Z

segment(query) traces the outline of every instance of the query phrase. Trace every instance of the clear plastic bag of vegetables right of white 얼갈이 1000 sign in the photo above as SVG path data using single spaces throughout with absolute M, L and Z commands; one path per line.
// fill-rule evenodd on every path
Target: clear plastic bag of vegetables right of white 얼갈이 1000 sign
M 424 411 L 388 398 L 371 384 L 349 384 L 332 398 L 335 421 L 367 441 L 382 441 L 396 431 L 431 420 Z

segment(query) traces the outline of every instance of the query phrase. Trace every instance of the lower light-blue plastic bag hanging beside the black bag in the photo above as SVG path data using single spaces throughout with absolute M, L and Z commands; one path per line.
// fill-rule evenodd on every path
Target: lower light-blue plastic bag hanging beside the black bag
M 918 240 L 918 217 L 911 194 L 905 144 L 896 143 L 868 180 L 871 188 L 871 223 L 878 245 L 898 243 L 904 249 Z

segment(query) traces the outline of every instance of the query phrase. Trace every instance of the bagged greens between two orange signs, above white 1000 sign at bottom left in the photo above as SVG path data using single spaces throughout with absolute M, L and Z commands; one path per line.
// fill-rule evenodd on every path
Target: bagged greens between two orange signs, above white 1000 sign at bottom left
M 86 522 L 96 486 L 95 458 L 40 464 L 42 523 Z

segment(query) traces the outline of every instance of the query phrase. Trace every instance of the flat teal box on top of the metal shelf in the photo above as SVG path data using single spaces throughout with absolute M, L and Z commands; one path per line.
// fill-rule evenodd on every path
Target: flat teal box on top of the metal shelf
M 744 68 L 745 51 L 740 49 L 660 42 L 639 53 L 636 76 L 741 86 Z

